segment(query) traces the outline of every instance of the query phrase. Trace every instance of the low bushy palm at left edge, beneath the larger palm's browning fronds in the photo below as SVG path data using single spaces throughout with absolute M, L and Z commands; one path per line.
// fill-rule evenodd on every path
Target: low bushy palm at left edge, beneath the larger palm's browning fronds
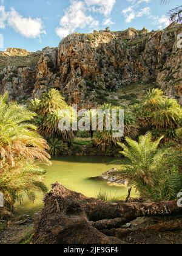
M 46 193 L 44 174 L 42 168 L 25 158 L 15 158 L 14 166 L 3 164 L 0 168 L 0 191 L 4 196 L 5 207 L 12 212 L 15 202 L 22 201 L 22 194 L 27 194 L 30 201 L 35 201 L 36 192 Z

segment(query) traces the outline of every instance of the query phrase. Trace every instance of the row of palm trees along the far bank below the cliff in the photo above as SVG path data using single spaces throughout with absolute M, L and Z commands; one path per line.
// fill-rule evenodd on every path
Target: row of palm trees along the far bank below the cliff
M 37 114 L 34 122 L 38 126 L 38 132 L 48 140 L 50 153 L 61 154 L 66 151 L 68 144 L 75 138 L 76 132 L 63 131 L 58 127 L 61 118 L 59 110 L 70 110 L 70 115 L 72 113 L 72 109 L 66 104 L 59 91 L 51 89 L 40 99 L 33 99 L 29 103 L 29 109 Z M 121 107 L 104 104 L 99 106 L 99 109 L 110 112 L 114 109 L 119 113 Z M 92 130 L 94 116 L 97 120 L 96 130 Z M 99 131 L 98 112 L 90 109 L 85 113 L 86 124 L 90 124 L 90 140 L 103 153 L 108 149 L 113 151 L 118 148 L 117 143 L 123 142 L 124 137 L 136 138 L 142 133 L 141 130 L 151 130 L 153 137 L 164 135 L 164 141 L 178 140 L 177 130 L 181 128 L 182 110 L 175 99 L 169 99 L 164 96 L 163 91 L 153 89 L 148 91 L 141 104 L 135 104 L 132 108 L 124 110 L 124 137 L 115 138 L 113 130 L 106 130 L 106 121 L 109 121 L 106 118 L 109 117 L 104 115 L 104 129 Z

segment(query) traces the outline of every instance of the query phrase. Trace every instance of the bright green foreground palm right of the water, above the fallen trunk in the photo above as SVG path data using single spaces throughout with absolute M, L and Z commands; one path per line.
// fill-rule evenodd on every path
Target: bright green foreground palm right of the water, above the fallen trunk
M 127 174 L 130 185 L 136 187 L 144 199 L 175 199 L 182 188 L 182 175 L 175 166 L 177 154 L 172 148 L 160 148 L 163 137 L 152 141 L 152 133 L 141 136 L 139 141 L 126 138 L 126 144 L 118 143 L 127 158 L 121 166 L 121 174 Z

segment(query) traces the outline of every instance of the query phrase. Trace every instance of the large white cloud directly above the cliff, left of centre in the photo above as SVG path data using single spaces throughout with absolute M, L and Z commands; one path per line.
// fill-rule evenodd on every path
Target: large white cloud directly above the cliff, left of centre
M 86 5 L 83 1 L 72 0 L 69 8 L 60 20 L 60 27 L 56 28 L 56 34 L 59 37 L 66 37 L 75 32 L 76 29 L 88 26 L 94 28 L 98 26 L 99 21 L 93 19 L 86 13 Z

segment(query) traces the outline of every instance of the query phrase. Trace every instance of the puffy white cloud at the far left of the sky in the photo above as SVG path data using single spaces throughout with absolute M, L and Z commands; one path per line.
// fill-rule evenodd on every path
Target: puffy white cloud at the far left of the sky
M 6 12 L 5 7 L 1 5 L 0 28 L 5 28 L 6 24 L 27 38 L 39 38 L 42 34 L 46 34 L 41 19 L 25 18 L 13 8 Z

